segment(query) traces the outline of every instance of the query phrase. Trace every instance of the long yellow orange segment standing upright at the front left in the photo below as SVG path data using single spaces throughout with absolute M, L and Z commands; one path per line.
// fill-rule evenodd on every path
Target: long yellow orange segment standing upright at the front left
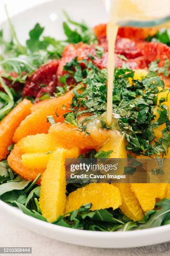
M 63 215 L 66 202 L 65 158 L 77 157 L 77 148 L 68 152 L 64 148 L 57 148 L 50 156 L 40 187 L 40 208 L 47 221 L 52 222 L 59 215 Z

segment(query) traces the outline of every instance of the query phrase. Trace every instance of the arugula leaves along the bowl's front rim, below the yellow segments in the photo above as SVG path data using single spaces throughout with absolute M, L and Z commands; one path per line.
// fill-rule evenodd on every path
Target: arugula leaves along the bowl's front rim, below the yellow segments
M 9 205 L 18 206 L 25 214 L 47 221 L 41 214 L 38 204 L 40 197 L 40 186 L 36 184 L 36 178 L 33 183 L 24 181 L 19 175 L 16 175 L 8 166 L 7 161 L 0 162 L 0 199 Z M 77 186 L 85 184 L 68 184 L 69 192 L 77 189 Z M 153 228 L 170 223 L 170 200 L 163 199 L 156 203 L 155 209 L 146 213 L 143 220 L 133 222 L 125 216 L 120 209 L 112 208 L 104 210 L 91 211 L 92 204 L 89 202 L 82 205 L 78 210 L 59 216 L 53 222 L 55 225 L 61 225 L 69 228 L 99 231 L 128 231 L 135 229 Z

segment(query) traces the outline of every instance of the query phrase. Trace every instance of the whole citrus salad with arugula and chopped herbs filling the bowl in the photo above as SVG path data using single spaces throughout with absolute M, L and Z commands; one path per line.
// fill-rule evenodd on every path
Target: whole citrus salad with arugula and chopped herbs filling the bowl
M 70 228 L 169 224 L 168 183 L 66 184 L 65 159 L 170 158 L 170 30 L 119 28 L 108 128 L 106 24 L 65 17 L 63 41 L 0 31 L 0 199 Z

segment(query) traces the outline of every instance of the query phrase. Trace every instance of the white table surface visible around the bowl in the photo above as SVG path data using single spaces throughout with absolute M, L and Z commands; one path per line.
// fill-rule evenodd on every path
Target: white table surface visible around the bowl
M 4 5 L 7 5 L 10 16 L 15 15 L 31 6 L 38 5 L 47 0 L 0 0 L 0 22 L 6 18 Z M 50 0 L 49 0 L 50 1 Z M 10 221 L 5 213 L 0 212 L 0 247 L 32 247 L 32 255 L 35 256 L 156 256 L 170 255 L 170 243 L 156 246 L 147 246 L 130 249 L 98 249 L 83 246 L 74 246 L 68 243 L 55 241 L 44 236 L 32 233 L 16 223 Z M 9 255 L 9 254 L 8 254 Z M 12 254 L 11 254 L 12 255 Z M 14 255 L 14 254 L 13 254 Z M 21 254 L 15 254 L 21 255 Z M 23 254 L 25 255 L 25 254 Z M 26 254 L 28 255 L 28 254 Z

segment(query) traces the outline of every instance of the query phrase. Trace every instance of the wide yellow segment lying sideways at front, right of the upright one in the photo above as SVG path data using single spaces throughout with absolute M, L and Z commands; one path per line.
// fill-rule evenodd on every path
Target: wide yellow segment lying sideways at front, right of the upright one
M 122 199 L 117 187 L 107 183 L 91 183 L 77 189 L 67 197 L 65 212 L 77 210 L 81 205 L 92 203 L 91 210 L 100 210 L 112 207 L 117 209 Z

